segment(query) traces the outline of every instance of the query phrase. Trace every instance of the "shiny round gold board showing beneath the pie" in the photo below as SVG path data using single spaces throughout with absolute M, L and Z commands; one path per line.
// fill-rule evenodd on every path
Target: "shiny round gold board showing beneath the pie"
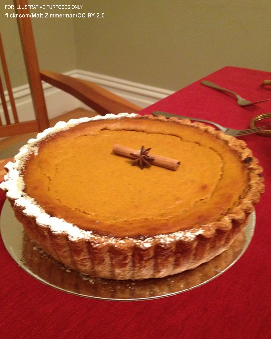
M 92 278 L 58 263 L 33 241 L 15 218 L 8 200 L 0 218 L 0 230 L 8 253 L 28 274 L 60 291 L 86 298 L 116 301 L 157 299 L 199 287 L 227 271 L 246 251 L 254 233 L 256 214 L 230 248 L 207 263 L 162 279 L 117 281 Z

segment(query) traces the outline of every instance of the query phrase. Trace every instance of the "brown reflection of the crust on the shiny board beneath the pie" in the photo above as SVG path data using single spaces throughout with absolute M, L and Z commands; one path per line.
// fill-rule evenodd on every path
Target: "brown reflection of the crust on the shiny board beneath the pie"
M 241 232 L 227 251 L 193 270 L 162 279 L 116 281 L 93 278 L 68 270 L 51 257 L 46 256 L 34 242 L 24 234 L 23 258 L 25 265 L 38 277 L 51 285 L 65 288 L 77 294 L 109 299 L 153 298 L 188 290 L 214 278 L 223 272 L 242 253 L 246 242 L 245 232 Z

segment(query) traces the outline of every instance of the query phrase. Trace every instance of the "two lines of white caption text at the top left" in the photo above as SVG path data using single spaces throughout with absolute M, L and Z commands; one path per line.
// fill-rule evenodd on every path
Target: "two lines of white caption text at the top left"
M 104 13 L 35 13 L 35 10 L 48 10 L 48 9 L 82 9 L 83 5 L 5 5 L 5 9 L 30 9 L 31 13 L 17 14 L 17 13 L 5 13 L 6 18 L 17 18 L 17 17 L 30 17 L 30 18 L 104 18 Z

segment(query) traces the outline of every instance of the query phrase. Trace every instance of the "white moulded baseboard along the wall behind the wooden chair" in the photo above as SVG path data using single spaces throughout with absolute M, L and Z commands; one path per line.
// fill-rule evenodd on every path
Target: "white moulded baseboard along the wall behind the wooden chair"
M 147 107 L 173 93 L 167 89 L 143 85 L 103 74 L 87 72 L 81 69 L 75 69 L 65 74 L 96 83 L 142 108 Z M 47 83 L 43 83 L 43 88 L 49 119 L 55 118 L 58 115 L 69 112 L 77 107 L 87 108 L 85 104 L 81 103 L 76 98 L 61 91 L 58 88 L 55 88 Z M 32 106 L 28 84 L 13 88 L 13 93 L 18 110 L 19 120 L 25 121 L 34 119 L 34 109 Z M 7 106 L 10 109 L 7 94 L 6 100 Z M 0 116 L 2 122 L 4 123 L 5 120 L 3 118 L 3 109 L 1 104 Z

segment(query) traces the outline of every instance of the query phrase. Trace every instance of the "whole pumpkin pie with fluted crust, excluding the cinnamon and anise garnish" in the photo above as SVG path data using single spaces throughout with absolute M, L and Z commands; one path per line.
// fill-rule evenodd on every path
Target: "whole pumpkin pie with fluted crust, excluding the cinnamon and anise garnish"
M 178 156 L 180 168 L 131 166 L 110 152 L 120 140 Z M 262 167 L 244 141 L 149 115 L 60 122 L 5 168 L 0 187 L 30 239 L 73 270 L 116 280 L 162 278 L 209 261 L 242 232 L 264 192 Z

